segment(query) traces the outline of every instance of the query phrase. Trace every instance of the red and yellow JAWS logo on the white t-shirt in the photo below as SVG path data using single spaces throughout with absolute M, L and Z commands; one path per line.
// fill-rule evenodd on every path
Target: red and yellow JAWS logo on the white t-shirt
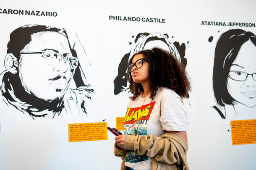
M 125 114 L 124 124 L 133 124 L 139 120 L 148 120 L 155 103 L 156 102 L 153 101 L 149 104 L 142 105 L 141 107 L 128 107 Z

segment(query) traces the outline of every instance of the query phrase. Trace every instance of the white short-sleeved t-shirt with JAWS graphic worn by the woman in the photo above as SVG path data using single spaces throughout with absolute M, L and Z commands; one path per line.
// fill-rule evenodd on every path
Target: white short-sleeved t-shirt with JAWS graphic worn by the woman
M 186 131 L 188 115 L 181 97 L 167 88 L 158 89 L 154 100 L 138 96 L 130 100 L 124 122 L 124 134 L 161 136 L 166 131 Z M 151 170 L 151 158 L 130 151 L 125 166 L 134 170 Z

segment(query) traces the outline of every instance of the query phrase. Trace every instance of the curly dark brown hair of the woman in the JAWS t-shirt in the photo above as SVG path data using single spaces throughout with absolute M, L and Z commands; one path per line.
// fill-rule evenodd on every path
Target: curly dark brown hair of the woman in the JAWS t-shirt
M 128 64 L 132 63 L 134 56 L 142 54 L 149 63 L 149 89 L 150 99 L 154 99 L 157 89 L 167 87 L 175 91 L 181 98 L 188 97 L 188 91 L 191 90 L 191 84 L 185 71 L 185 67 L 172 53 L 162 48 L 154 47 L 152 50 L 143 50 L 135 53 Z M 130 98 L 136 99 L 143 91 L 140 83 L 135 83 L 131 72 L 127 72 L 127 79 L 130 83 L 130 91 L 133 94 Z

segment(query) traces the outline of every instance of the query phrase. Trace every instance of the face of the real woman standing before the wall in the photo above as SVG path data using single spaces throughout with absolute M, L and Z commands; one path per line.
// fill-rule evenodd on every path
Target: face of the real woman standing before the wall
M 142 54 L 137 54 L 136 56 L 134 56 L 132 63 L 135 63 L 138 59 L 140 58 L 144 58 L 144 56 Z M 133 66 L 132 68 L 132 72 L 131 72 L 131 76 L 133 78 L 133 81 L 135 83 L 141 83 L 142 85 L 144 83 L 149 82 L 149 63 L 146 61 L 143 61 L 143 65 L 141 68 L 137 68 L 136 66 Z

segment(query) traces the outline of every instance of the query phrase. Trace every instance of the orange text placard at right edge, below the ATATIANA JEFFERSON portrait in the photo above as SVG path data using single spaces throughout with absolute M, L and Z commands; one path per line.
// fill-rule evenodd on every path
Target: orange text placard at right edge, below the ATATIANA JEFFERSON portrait
M 230 123 L 233 145 L 256 143 L 256 119 L 235 120 Z

